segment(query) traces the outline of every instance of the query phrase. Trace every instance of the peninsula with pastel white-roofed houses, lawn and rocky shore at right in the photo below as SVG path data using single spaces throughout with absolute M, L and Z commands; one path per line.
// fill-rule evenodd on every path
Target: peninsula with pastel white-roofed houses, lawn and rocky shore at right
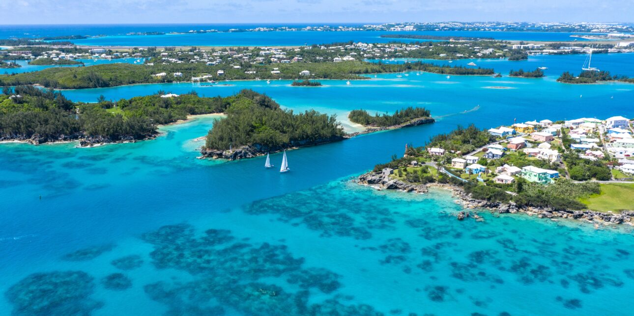
M 424 147 L 406 146 L 402 158 L 376 165 L 359 183 L 418 193 L 446 187 L 467 208 L 499 213 L 634 222 L 634 160 L 618 136 L 631 133 L 629 125 L 612 117 L 458 127 Z M 600 142 L 610 145 L 595 146 Z

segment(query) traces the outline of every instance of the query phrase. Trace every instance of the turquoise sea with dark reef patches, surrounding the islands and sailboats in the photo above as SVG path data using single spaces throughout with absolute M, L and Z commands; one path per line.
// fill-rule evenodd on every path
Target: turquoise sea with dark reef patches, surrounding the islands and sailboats
M 624 58 L 605 67 L 631 71 L 631 55 L 602 56 Z M 557 67 L 577 64 L 547 57 L 476 63 L 538 64 L 557 75 Z M 195 159 L 201 142 L 193 139 L 212 126 L 210 117 L 133 144 L 0 144 L 0 313 L 45 306 L 46 315 L 632 314 L 634 239 L 626 227 L 486 212 L 484 222 L 460 222 L 445 191 L 379 192 L 351 182 L 402 155 L 404 144 L 423 145 L 457 124 L 634 117 L 634 85 L 567 85 L 547 75 L 410 72 L 316 88 L 276 80 L 64 91 L 95 101 L 250 88 L 295 111 L 337 114 L 347 130 L 358 129 L 346 120 L 356 108 L 425 106 L 438 121 L 289 151 L 288 174 L 265 170 L 262 158 Z

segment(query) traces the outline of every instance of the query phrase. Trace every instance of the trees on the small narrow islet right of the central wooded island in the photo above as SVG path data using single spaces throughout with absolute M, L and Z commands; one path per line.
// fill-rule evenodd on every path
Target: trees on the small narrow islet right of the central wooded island
M 375 113 L 375 115 L 372 116 L 366 110 L 352 110 L 348 118 L 351 122 L 365 126 L 388 127 L 406 123 L 415 118 L 429 117 L 429 115 L 429 110 L 425 108 L 413 108 L 410 106 L 402 110 L 396 110 L 392 115 L 387 113 L 379 115 Z

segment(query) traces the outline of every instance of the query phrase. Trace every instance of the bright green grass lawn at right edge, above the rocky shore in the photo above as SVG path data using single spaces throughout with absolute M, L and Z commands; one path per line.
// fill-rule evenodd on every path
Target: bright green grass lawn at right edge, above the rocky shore
M 601 193 L 581 199 L 590 210 L 598 212 L 634 210 L 634 183 L 601 184 Z

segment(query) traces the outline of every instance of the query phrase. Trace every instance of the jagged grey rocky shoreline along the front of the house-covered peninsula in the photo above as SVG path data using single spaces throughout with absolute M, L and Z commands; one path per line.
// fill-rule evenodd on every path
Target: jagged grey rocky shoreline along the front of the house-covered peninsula
M 453 184 L 408 184 L 401 180 L 391 179 L 387 175 L 383 175 L 380 172 L 368 172 L 362 174 L 358 178 L 358 183 L 368 186 L 373 186 L 377 189 L 396 189 L 405 192 L 426 193 L 428 187 L 441 187 L 452 191 L 453 196 L 456 198 L 456 203 L 462 205 L 466 210 L 486 209 L 494 213 L 525 213 L 526 215 L 539 218 L 567 218 L 574 220 L 583 220 L 584 222 L 595 224 L 611 225 L 611 224 L 629 224 L 634 225 L 634 211 L 623 211 L 621 213 L 602 213 L 591 210 L 553 210 L 552 208 L 539 208 L 532 206 L 518 206 L 515 203 L 499 203 L 484 201 L 481 199 L 474 199 L 470 194 L 465 193 L 462 187 L 455 186 Z M 472 215 L 469 211 L 463 211 L 456 215 L 458 220 L 462 220 L 466 217 L 477 217 L 477 213 Z

